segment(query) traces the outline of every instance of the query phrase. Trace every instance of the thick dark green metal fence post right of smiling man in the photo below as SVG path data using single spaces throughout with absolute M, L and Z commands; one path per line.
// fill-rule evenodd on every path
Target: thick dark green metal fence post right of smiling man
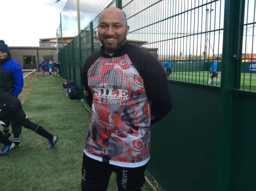
M 230 181 L 230 155 L 233 117 L 233 95 L 231 90 L 236 86 L 234 80 L 239 70 L 239 40 L 240 19 L 242 4 L 245 0 L 225 0 L 224 32 L 223 32 L 223 56 L 222 56 L 222 80 L 220 86 L 221 96 L 221 130 L 220 130 L 220 154 L 218 159 L 218 188 L 228 191 Z M 237 78 L 237 76 L 236 76 Z

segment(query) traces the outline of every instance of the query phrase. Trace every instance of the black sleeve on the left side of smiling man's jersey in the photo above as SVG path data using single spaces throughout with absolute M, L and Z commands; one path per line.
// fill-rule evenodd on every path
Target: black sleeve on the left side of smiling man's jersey
M 87 72 L 91 66 L 91 64 L 88 63 L 88 60 L 86 60 L 86 62 L 84 63 L 84 66 L 82 68 L 82 85 L 84 88 L 84 95 L 85 95 L 85 99 L 87 104 L 92 108 L 92 92 L 90 91 L 90 88 L 88 86 L 88 80 L 87 80 Z

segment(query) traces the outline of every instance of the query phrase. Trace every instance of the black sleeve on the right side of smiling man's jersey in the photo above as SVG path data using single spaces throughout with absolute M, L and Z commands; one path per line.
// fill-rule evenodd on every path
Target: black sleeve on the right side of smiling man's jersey
M 172 95 L 161 63 L 148 54 L 144 60 L 144 87 L 151 103 L 151 124 L 164 118 L 172 109 Z

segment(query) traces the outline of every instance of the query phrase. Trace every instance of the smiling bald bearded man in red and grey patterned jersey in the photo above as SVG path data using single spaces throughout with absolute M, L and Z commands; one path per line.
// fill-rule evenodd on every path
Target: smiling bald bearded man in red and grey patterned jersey
M 107 8 L 99 17 L 101 50 L 82 69 L 91 123 L 84 147 L 82 191 L 106 191 L 116 173 L 118 191 L 140 191 L 150 159 L 150 125 L 172 109 L 164 68 L 126 40 L 125 13 Z

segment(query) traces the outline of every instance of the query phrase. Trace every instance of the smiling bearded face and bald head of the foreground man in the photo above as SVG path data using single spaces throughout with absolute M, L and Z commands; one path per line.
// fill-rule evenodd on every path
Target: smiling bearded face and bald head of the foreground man
M 126 42 L 129 28 L 129 26 L 126 26 L 126 19 L 122 12 L 105 10 L 102 13 L 98 24 L 98 34 L 107 53 L 114 53 L 117 48 Z

